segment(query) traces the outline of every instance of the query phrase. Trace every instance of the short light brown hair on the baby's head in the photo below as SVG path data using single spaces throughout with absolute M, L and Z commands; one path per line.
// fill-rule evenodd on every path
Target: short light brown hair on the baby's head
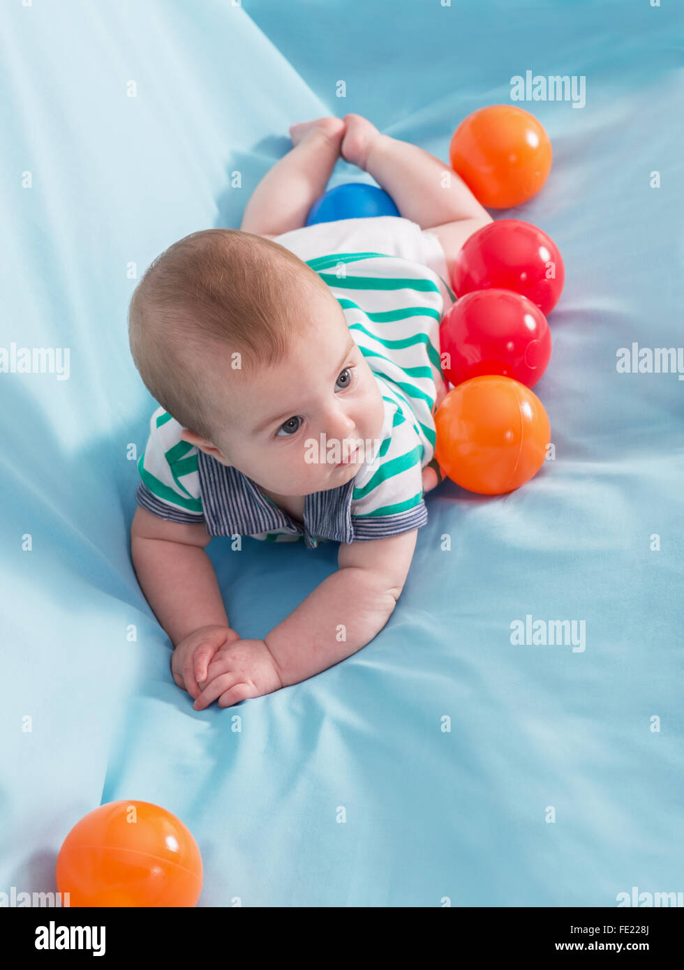
M 149 393 L 215 444 L 207 355 L 224 353 L 230 367 L 239 352 L 247 372 L 277 364 L 298 337 L 307 283 L 330 299 L 293 252 L 242 230 L 205 229 L 174 242 L 147 268 L 128 310 L 131 353 Z

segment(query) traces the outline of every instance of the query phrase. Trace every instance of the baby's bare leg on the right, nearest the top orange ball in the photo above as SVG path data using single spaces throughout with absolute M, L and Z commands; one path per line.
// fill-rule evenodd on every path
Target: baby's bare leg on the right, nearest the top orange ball
M 421 229 L 462 219 L 492 221 L 463 179 L 435 155 L 380 134 L 360 114 L 346 114 L 344 122 L 344 159 L 373 176 L 402 215 Z

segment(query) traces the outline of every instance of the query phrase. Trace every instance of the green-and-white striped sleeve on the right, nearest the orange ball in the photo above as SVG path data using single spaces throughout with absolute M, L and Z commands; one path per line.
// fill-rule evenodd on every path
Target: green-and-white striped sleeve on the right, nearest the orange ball
M 414 418 L 401 407 L 383 427 L 375 456 L 357 476 L 352 494 L 354 542 L 419 529 L 428 521 L 423 498 L 424 447 Z

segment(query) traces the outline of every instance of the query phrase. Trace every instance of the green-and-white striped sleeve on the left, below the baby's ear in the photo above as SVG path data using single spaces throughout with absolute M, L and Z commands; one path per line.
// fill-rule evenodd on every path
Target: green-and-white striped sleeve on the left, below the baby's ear
M 197 448 L 183 441 L 181 430 L 163 407 L 152 414 L 147 447 L 138 460 L 136 501 L 162 519 L 204 522 Z

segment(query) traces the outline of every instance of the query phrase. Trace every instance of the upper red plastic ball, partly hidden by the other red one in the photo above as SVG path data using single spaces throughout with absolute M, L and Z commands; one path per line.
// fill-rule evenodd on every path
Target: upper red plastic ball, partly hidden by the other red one
M 561 296 L 566 270 L 558 246 L 537 226 L 499 219 L 466 240 L 451 279 L 459 296 L 473 290 L 515 290 L 548 315 Z

